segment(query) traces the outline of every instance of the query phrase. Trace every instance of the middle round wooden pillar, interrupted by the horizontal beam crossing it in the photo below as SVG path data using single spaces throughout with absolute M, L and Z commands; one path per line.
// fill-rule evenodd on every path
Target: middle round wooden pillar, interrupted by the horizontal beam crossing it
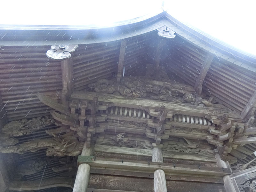
M 163 152 L 162 152 L 162 147 L 163 145 L 153 145 L 152 144 L 152 161 L 153 162 L 160 162 L 163 163 Z M 165 173 L 162 169 L 157 169 L 154 172 L 154 189 L 155 192 L 167 192 L 166 188 L 166 180 L 165 180 Z

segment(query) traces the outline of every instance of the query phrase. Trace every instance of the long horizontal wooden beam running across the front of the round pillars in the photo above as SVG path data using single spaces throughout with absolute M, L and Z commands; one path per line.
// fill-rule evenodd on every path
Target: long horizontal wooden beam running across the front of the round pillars
M 199 174 L 199 175 L 214 175 L 214 176 L 223 176 L 230 174 L 231 171 L 228 168 L 219 168 L 219 167 L 204 167 L 204 166 L 196 166 L 196 165 L 185 165 L 185 164 L 176 164 L 174 166 L 168 166 L 164 163 L 158 162 L 143 162 L 137 163 L 136 161 L 133 162 L 122 162 L 119 159 L 101 159 L 95 160 L 92 162 L 86 161 L 87 164 L 90 164 L 93 168 L 96 167 L 105 167 L 108 169 L 117 169 L 117 170 L 124 170 L 124 171 L 143 171 L 143 172 L 154 172 L 157 169 L 162 169 L 164 172 L 173 172 L 173 173 L 188 173 L 188 174 Z M 85 163 L 85 162 L 78 162 L 78 163 Z M 200 168 L 200 169 L 199 169 Z

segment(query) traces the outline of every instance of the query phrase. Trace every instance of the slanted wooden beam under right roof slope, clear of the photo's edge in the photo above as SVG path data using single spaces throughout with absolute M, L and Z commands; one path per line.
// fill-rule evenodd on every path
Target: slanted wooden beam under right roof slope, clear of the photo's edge
M 213 59 L 213 56 L 209 55 L 209 54 L 205 57 L 202 69 L 200 70 L 200 74 L 196 79 L 196 84 L 194 86 L 194 90 L 198 94 L 202 93 L 202 86 L 203 86 L 204 78 L 207 74 L 208 69 L 210 68 L 210 66 L 212 64 L 212 59 Z

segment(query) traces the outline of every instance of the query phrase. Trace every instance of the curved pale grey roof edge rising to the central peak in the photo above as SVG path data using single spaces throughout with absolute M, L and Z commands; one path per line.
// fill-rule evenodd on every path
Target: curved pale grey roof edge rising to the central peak
M 121 40 L 154 31 L 163 26 L 196 47 L 250 71 L 256 72 L 256 56 L 185 25 L 163 9 L 111 27 L 97 26 L 1 26 L 0 45 L 40 46 L 56 44 L 93 44 Z M 39 27 L 39 28 L 38 28 Z

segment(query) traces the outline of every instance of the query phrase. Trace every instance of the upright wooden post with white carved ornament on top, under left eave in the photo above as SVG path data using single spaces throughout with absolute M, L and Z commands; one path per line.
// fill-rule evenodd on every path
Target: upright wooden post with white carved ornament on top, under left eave
M 61 102 L 68 103 L 68 99 L 73 92 L 73 68 L 72 68 L 72 53 L 78 45 L 52 45 L 51 49 L 46 52 L 47 57 L 61 61 L 62 74 L 62 91 Z

